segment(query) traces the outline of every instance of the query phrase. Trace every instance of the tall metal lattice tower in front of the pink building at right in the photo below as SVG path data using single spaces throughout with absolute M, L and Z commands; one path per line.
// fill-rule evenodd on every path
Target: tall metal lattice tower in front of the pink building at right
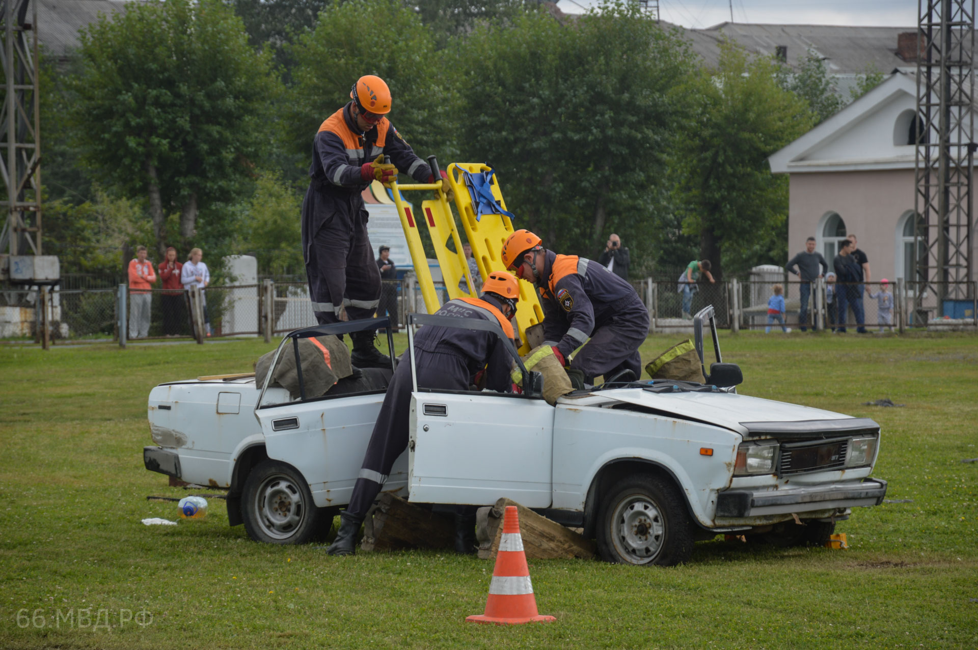
M 966 299 L 972 251 L 974 0 L 918 0 L 916 301 Z

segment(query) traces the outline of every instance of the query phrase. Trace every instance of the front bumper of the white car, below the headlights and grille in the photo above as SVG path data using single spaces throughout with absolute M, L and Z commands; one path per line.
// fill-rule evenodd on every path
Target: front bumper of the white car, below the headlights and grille
M 886 481 L 791 488 L 788 490 L 728 490 L 717 495 L 717 517 L 742 518 L 879 505 L 886 496 Z

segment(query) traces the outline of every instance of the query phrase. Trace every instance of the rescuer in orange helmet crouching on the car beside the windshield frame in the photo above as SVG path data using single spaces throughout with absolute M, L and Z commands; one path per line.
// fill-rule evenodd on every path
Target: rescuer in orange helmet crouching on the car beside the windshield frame
M 536 285 L 545 343 L 565 367 L 570 353 L 584 345 L 570 368 L 581 370 L 587 383 L 625 369 L 642 376 L 639 346 L 648 335 L 648 310 L 631 284 L 597 262 L 547 250 L 527 230 L 507 238 L 502 258 L 517 278 Z

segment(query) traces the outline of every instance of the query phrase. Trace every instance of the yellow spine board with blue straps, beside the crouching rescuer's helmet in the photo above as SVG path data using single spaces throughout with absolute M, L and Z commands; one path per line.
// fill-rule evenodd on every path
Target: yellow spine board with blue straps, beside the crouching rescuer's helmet
M 493 271 L 506 271 L 503 266 L 500 253 L 506 239 L 512 234 L 512 222 L 505 214 L 483 214 L 480 220 L 475 219 L 475 206 L 472 205 L 471 195 L 468 193 L 468 186 L 462 172 L 476 173 L 492 169 L 488 165 L 472 162 L 453 162 L 448 166 L 448 179 L 452 191 L 455 193 L 455 206 L 459 210 L 459 218 L 466 231 L 468 244 L 472 247 L 472 256 L 475 258 L 479 267 L 479 275 L 482 281 Z M 496 175 L 492 177 L 492 194 L 506 209 L 506 200 L 499 189 Z M 395 192 L 396 195 L 396 192 Z M 447 205 L 446 205 L 447 208 Z M 449 211 L 449 217 L 451 212 Z M 454 230 L 454 219 L 452 220 Z M 434 234 L 432 233 L 432 238 Z M 461 250 L 461 248 L 459 248 Z M 449 251 L 451 252 L 451 251 Z M 412 254 L 414 254 L 412 252 Z M 441 258 L 439 257 L 439 262 Z M 444 265 L 442 269 L 444 270 Z M 446 282 L 448 282 L 446 280 Z M 455 283 L 455 290 L 458 291 L 458 281 Z M 449 295 L 451 287 L 449 288 Z M 452 297 L 455 297 L 452 295 Z M 522 346 L 519 353 L 525 355 L 530 351 L 530 346 L 526 342 L 525 331 L 527 327 L 537 325 L 544 320 L 543 308 L 537 297 L 537 291 L 530 282 L 519 281 L 519 305 L 516 310 L 516 325 L 519 330 L 519 338 Z

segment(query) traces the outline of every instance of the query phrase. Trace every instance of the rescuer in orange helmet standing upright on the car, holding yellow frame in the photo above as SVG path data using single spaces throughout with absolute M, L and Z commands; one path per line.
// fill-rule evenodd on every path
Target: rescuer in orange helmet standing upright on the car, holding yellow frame
M 434 182 L 431 168 L 384 117 L 391 97 L 380 77 L 357 79 L 350 100 L 319 127 L 302 201 L 302 254 L 309 297 L 321 325 L 338 322 L 344 305 L 350 320 L 373 318 L 377 311 L 380 274 L 361 193 L 372 181 L 396 180 L 398 170 L 419 183 Z M 383 162 L 385 155 L 390 163 Z M 354 366 L 390 368 L 390 359 L 374 345 L 375 332 L 350 337 Z

